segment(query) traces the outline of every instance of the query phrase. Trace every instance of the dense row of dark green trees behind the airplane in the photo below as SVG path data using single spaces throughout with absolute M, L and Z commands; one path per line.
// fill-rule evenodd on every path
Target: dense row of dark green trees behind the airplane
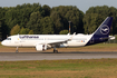
M 91 33 L 105 20 L 114 17 L 111 35 L 117 35 L 117 9 L 101 6 L 90 7 L 86 13 L 76 6 L 50 8 L 40 3 L 23 3 L 17 7 L 0 7 L 0 38 L 10 35 L 62 35 L 71 32 Z

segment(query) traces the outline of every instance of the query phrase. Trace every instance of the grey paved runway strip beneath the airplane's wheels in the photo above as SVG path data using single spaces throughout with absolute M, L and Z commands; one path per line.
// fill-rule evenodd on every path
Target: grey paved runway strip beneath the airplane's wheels
M 0 52 L 0 61 L 117 58 L 117 52 Z

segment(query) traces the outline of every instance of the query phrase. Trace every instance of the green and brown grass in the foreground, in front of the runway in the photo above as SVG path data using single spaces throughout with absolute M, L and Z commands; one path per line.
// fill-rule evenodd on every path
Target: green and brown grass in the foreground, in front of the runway
M 116 78 L 117 59 L 0 61 L 0 78 Z

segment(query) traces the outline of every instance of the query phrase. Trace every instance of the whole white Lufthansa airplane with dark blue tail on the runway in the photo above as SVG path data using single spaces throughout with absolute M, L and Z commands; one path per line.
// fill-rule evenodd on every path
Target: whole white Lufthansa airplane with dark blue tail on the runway
M 37 51 L 53 48 L 53 52 L 57 53 L 58 50 L 56 48 L 85 47 L 114 40 L 115 37 L 109 36 L 111 23 L 113 17 L 107 17 L 91 35 L 14 35 L 3 40 L 1 45 L 17 47 L 16 52 L 19 52 L 19 47 L 35 47 Z

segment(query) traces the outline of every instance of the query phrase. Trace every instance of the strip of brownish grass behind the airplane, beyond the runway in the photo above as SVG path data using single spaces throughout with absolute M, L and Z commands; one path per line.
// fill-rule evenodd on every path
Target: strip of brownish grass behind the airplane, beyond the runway
M 16 48 L 3 47 L 0 45 L 0 52 L 14 52 Z M 78 48 L 58 48 L 59 52 L 69 52 L 69 51 L 117 51 L 117 43 L 98 43 L 87 47 Z M 37 52 L 36 48 L 19 48 L 19 52 Z M 45 51 L 43 51 L 45 52 Z M 52 49 L 47 50 L 46 52 L 52 52 Z

